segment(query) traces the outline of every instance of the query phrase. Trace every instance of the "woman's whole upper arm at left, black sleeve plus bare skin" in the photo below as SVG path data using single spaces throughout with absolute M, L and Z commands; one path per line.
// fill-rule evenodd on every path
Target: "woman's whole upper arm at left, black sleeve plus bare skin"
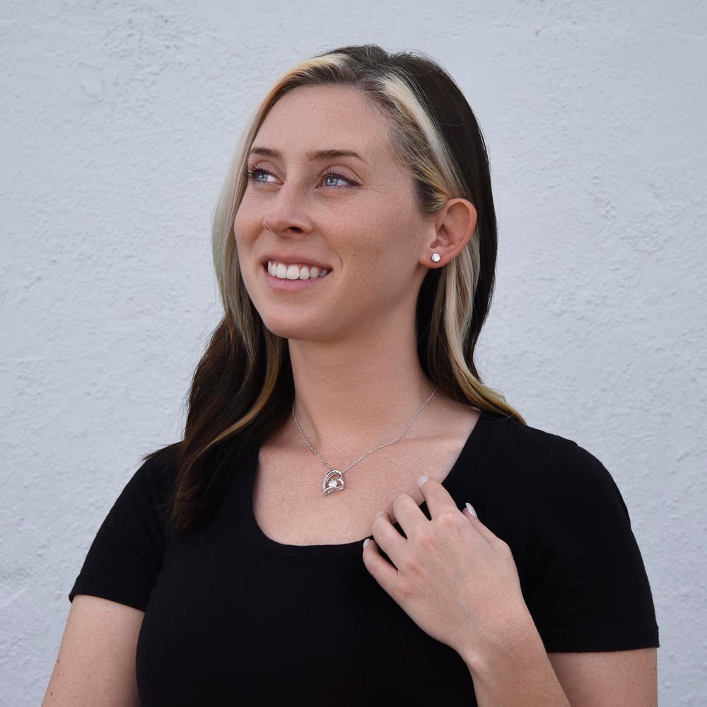
M 166 547 L 163 459 L 137 469 L 90 544 L 42 707 L 139 707 L 137 643 Z

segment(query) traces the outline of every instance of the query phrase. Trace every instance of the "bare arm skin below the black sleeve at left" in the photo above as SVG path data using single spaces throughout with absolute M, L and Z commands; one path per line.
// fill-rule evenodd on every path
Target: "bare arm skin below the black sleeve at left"
M 135 654 L 144 615 L 77 594 L 42 707 L 139 707 Z

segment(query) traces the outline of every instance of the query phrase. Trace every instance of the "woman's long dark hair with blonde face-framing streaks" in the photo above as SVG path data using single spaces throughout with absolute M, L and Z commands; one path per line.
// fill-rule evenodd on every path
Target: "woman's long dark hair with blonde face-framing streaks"
M 184 439 L 143 457 L 170 453 L 172 534 L 196 530 L 214 513 L 233 474 L 227 452 L 256 448 L 291 414 L 287 341 L 264 327 L 248 296 L 233 223 L 247 187 L 247 156 L 269 110 L 293 88 L 322 85 L 358 91 L 380 115 L 396 159 L 414 177 L 422 211 L 434 214 L 454 197 L 474 204 L 477 224 L 467 247 L 444 267 L 431 268 L 421 285 L 419 360 L 428 378 L 457 401 L 526 424 L 501 393 L 481 382 L 474 363 L 491 305 L 497 233 L 489 159 L 469 103 L 445 69 L 421 52 L 389 53 L 373 44 L 332 49 L 274 83 L 243 131 L 214 211 L 223 319 L 194 371 Z

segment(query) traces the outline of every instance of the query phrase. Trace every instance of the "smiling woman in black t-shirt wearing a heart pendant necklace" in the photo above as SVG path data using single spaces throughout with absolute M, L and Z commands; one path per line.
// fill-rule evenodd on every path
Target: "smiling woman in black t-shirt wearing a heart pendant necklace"
M 438 64 L 366 45 L 282 76 L 214 262 L 185 438 L 100 527 L 45 704 L 657 704 L 619 489 L 474 365 L 496 221 Z

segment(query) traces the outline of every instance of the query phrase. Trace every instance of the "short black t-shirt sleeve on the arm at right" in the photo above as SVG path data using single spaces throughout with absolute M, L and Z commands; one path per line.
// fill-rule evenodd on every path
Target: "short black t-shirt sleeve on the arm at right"
M 554 455 L 530 520 L 526 603 L 549 652 L 658 648 L 658 624 L 626 503 L 575 442 Z

